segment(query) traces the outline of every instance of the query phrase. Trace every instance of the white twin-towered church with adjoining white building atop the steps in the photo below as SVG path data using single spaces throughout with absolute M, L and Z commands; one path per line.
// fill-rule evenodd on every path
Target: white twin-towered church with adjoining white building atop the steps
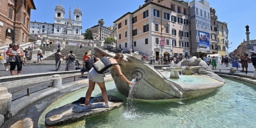
M 40 23 L 32 22 L 30 24 L 30 34 L 67 34 L 67 35 L 81 35 L 82 34 L 82 11 L 79 7 L 74 10 L 74 19 L 71 19 L 71 8 L 69 8 L 68 18 L 64 18 L 65 9 L 61 4 L 55 8 L 54 23 Z

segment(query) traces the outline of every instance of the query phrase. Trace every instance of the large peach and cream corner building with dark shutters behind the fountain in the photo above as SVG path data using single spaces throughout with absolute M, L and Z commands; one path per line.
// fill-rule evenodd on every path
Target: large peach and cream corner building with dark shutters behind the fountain
M 146 0 L 134 12 L 114 21 L 117 48 L 148 57 L 190 55 L 188 5 L 174 0 Z

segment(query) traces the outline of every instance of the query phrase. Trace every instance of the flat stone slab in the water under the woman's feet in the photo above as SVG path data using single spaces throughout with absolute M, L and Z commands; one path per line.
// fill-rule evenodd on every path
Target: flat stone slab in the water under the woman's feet
M 105 108 L 105 102 L 102 96 L 90 98 L 90 103 L 96 105 L 96 108 L 84 109 L 84 101 L 85 97 L 81 97 L 72 103 L 51 110 L 45 115 L 45 125 L 60 126 L 70 124 L 78 121 L 80 118 L 98 115 L 116 109 L 123 104 L 122 99 L 111 95 L 108 95 L 108 101 L 111 103 L 109 108 Z

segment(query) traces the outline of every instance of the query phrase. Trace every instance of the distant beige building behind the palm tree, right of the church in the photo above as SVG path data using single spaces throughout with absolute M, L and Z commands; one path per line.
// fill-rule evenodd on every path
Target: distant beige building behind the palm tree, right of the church
M 112 26 L 110 26 L 110 27 L 113 28 Z M 112 34 L 112 29 L 110 29 L 110 27 L 107 27 L 107 26 L 101 27 L 101 25 L 99 25 L 99 24 L 91 27 L 91 31 L 93 31 L 93 33 L 94 33 L 94 39 L 99 40 L 100 33 L 101 33 L 101 40 L 105 40 L 106 37 L 108 37 Z

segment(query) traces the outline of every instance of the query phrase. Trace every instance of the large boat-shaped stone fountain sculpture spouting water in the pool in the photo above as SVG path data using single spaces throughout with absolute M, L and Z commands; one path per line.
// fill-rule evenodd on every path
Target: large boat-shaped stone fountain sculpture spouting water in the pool
M 101 48 L 95 47 L 96 56 L 111 56 L 114 53 L 109 53 Z M 121 71 L 128 80 L 132 80 L 136 76 L 136 85 L 134 88 L 134 98 L 144 100 L 163 100 L 163 99 L 183 99 L 206 95 L 222 87 L 225 81 L 216 75 L 210 67 L 201 59 L 192 57 L 184 59 L 176 65 L 176 67 L 185 67 L 184 71 L 187 74 L 201 75 L 210 77 L 215 80 L 214 83 L 204 84 L 185 84 L 166 79 L 160 72 L 141 61 L 142 56 L 138 53 L 124 54 L 124 63 L 120 63 Z M 174 67 L 175 68 L 175 67 Z M 186 73 L 184 73 L 186 74 Z M 111 73 L 117 90 L 124 96 L 128 97 L 129 86 L 124 82 L 118 73 L 113 70 Z M 216 80 L 218 82 L 216 82 Z

